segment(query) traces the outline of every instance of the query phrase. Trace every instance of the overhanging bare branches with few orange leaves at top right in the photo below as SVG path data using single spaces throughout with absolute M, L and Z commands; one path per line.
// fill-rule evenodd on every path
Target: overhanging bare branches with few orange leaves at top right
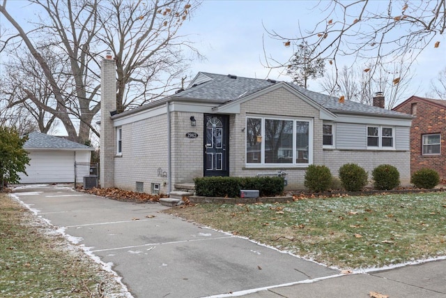
M 445 1 L 319 1 L 314 10 L 321 9 L 321 21 L 313 29 L 300 27 L 298 36 L 267 32 L 285 45 L 305 40 L 314 51 L 312 59 L 330 61 L 336 73 L 339 58 L 349 56 L 359 65 L 367 60 L 371 67 L 363 69 L 370 68 L 373 74 L 378 70 L 375 66 L 399 57 L 413 62 L 427 46 L 440 46 L 437 36 L 446 30 Z

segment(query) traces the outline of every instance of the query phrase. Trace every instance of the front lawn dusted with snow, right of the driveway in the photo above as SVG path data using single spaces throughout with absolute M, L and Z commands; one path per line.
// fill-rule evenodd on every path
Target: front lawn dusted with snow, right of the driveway
M 446 193 L 198 204 L 168 212 L 341 269 L 446 255 Z

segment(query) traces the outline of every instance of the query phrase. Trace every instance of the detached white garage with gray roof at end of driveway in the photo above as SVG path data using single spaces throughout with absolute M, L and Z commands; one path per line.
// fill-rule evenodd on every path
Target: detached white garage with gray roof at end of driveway
M 90 163 L 93 147 L 45 133 L 29 133 L 24 149 L 29 152 L 26 176 L 20 173 L 20 183 L 63 183 L 75 181 L 75 163 Z M 80 177 L 89 174 L 79 173 Z

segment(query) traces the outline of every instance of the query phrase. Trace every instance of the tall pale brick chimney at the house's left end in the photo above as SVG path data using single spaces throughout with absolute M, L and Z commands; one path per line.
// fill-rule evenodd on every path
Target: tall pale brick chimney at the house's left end
M 111 113 L 116 113 L 116 62 L 111 52 L 100 63 L 100 185 L 114 187 L 115 128 Z

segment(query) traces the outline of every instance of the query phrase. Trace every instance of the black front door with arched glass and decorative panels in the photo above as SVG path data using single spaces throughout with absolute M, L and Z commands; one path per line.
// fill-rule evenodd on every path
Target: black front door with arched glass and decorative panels
M 204 115 L 204 176 L 229 176 L 229 116 Z

